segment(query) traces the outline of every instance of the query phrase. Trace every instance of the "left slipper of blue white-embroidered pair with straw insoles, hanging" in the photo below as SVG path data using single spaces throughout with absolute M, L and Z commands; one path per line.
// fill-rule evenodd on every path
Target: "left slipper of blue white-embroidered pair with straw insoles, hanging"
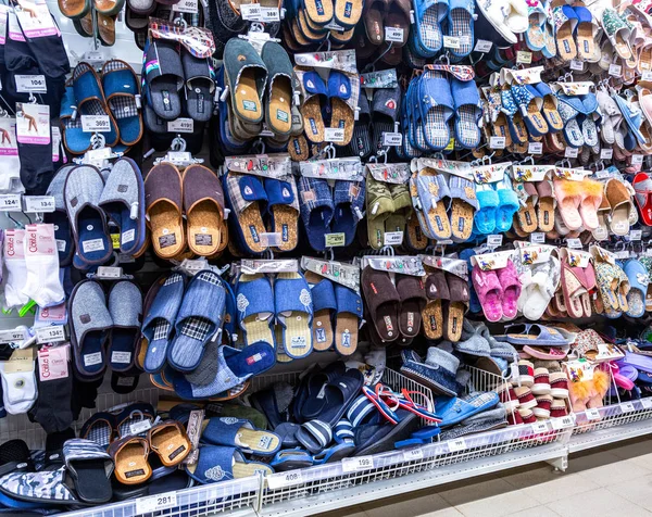
M 274 291 L 265 275 L 240 275 L 236 283 L 238 326 L 244 344 L 264 341 L 275 348 Z

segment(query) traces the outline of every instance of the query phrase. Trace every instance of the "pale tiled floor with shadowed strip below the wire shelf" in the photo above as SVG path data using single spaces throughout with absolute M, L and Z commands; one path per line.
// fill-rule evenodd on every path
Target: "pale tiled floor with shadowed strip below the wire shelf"
M 652 517 L 652 438 L 322 514 L 344 516 Z

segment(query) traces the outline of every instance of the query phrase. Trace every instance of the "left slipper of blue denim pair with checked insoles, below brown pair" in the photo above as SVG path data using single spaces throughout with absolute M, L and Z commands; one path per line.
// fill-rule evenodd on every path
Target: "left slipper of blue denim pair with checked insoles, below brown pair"
M 161 288 L 142 321 L 142 336 L 149 343 L 143 369 L 149 374 L 160 371 L 165 364 L 167 345 L 184 299 L 184 277 L 178 273 L 159 279 L 158 283 Z

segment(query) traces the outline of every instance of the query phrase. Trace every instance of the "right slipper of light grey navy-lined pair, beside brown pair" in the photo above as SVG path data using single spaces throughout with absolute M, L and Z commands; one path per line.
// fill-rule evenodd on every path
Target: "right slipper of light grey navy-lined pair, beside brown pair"
M 146 238 L 145 184 L 134 160 L 121 157 L 113 164 L 99 206 L 117 226 L 121 253 L 140 250 Z

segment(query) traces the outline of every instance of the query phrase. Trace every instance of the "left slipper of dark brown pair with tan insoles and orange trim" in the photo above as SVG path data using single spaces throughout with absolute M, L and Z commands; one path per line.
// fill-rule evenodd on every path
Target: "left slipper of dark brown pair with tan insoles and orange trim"
M 145 178 L 145 200 L 154 253 L 170 260 L 186 248 L 181 175 L 171 163 L 154 165 Z

